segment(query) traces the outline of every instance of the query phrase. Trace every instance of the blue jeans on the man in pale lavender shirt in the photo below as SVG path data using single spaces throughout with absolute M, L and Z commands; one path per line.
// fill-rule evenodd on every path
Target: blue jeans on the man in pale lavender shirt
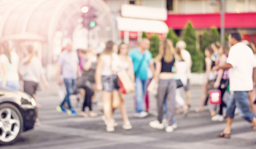
M 75 79 L 64 79 L 67 94 L 66 94 L 64 100 L 62 101 L 62 103 L 60 104 L 60 107 L 64 107 L 65 102 L 67 102 L 69 109 L 72 109 L 69 96 L 70 96 L 70 94 L 73 93 L 73 86 L 75 85 L 75 81 L 76 81 Z

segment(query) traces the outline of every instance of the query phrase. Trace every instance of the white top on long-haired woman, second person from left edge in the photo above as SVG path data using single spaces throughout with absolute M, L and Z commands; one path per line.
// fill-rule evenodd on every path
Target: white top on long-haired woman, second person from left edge
M 21 61 L 19 69 L 19 73 L 21 73 L 22 79 L 24 81 L 33 81 L 35 83 L 39 83 L 41 75 L 44 73 L 42 63 L 40 62 L 39 58 L 33 56 L 30 63 L 27 65 L 24 64 L 25 61 L 27 61 L 27 58 L 24 58 Z

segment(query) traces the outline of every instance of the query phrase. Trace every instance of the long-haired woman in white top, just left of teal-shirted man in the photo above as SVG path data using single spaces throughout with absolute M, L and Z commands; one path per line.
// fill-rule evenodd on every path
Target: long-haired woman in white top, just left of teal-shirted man
M 135 81 L 135 75 L 133 71 L 133 61 L 130 56 L 128 56 L 128 45 L 125 43 L 120 43 L 118 46 L 118 56 L 120 59 L 120 71 L 126 71 L 126 73 L 130 76 L 131 81 Z M 125 107 L 125 99 L 123 95 L 120 93 L 120 112 L 123 116 L 123 129 L 131 129 L 132 126 L 127 116 L 126 107 Z

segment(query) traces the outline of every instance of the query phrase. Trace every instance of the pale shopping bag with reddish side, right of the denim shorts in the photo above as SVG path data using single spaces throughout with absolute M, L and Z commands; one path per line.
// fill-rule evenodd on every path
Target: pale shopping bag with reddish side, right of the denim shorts
M 126 71 L 118 72 L 117 77 L 121 93 L 128 94 L 135 91 L 133 81 L 131 81 L 131 78 L 128 76 Z

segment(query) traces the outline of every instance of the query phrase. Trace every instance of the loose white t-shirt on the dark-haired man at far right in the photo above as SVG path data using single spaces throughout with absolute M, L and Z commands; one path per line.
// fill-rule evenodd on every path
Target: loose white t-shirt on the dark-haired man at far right
M 227 63 L 233 66 L 229 70 L 230 91 L 252 90 L 252 73 L 256 67 L 252 50 L 244 43 L 235 44 L 230 48 Z

